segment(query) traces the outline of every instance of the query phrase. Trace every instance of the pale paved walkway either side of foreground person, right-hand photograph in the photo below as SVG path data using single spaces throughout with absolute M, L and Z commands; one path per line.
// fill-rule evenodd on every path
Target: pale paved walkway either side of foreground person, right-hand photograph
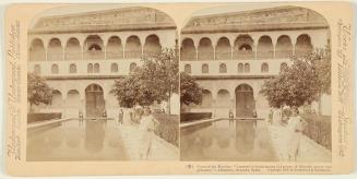
M 267 126 L 273 147 L 279 160 L 288 160 L 286 157 L 287 128 L 282 126 Z M 300 148 L 297 162 L 331 162 L 331 152 L 306 135 L 301 135 Z

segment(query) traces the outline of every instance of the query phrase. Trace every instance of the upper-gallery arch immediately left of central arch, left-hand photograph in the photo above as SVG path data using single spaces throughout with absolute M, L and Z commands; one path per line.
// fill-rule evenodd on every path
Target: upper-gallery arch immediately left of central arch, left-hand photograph
M 78 38 L 71 37 L 64 49 L 64 60 L 82 60 L 81 43 Z

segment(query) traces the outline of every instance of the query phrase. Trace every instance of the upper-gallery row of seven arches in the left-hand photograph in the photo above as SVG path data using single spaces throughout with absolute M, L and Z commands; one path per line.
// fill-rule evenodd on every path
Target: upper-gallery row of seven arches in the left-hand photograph
M 160 49 L 158 36 L 152 34 L 144 39 L 144 44 L 135 35 L 129 36 L 124 41 L 118 36 L 104 41 L 98 35 L 88 35 L 83 43 L 75 37 L 67 41 L 53 37 L 48 45 L 43 39 L 35 38 L 31 41 L 28 51 L 29 61 L 64 61 L 157 57 Z

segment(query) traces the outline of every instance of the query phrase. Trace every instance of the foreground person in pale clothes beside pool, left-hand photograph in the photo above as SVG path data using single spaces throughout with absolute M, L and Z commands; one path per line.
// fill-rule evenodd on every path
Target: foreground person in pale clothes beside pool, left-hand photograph
M 148 155 L 152 150 L 152 140 L 158 121 L 152 115 L 148 107 L 144 108 L 144 114 L 140 120 L 139 131 L 140 131 L 140 148 L 139 158 L 148 159 Z

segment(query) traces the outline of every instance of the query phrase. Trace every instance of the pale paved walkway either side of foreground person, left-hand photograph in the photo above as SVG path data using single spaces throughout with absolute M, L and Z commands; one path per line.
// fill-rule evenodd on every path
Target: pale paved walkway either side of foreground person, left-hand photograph
M 123 145 L 127 154 L 131 160 L 139 159 L 139 130 L 136 126 L 122 124 L 119 126 L 119 133 L 123 141 Z M 165 140 L 154 135 L 152 143 L 152 151 L 148 156 L 148 160 L 178 160 L 179 148 Z

